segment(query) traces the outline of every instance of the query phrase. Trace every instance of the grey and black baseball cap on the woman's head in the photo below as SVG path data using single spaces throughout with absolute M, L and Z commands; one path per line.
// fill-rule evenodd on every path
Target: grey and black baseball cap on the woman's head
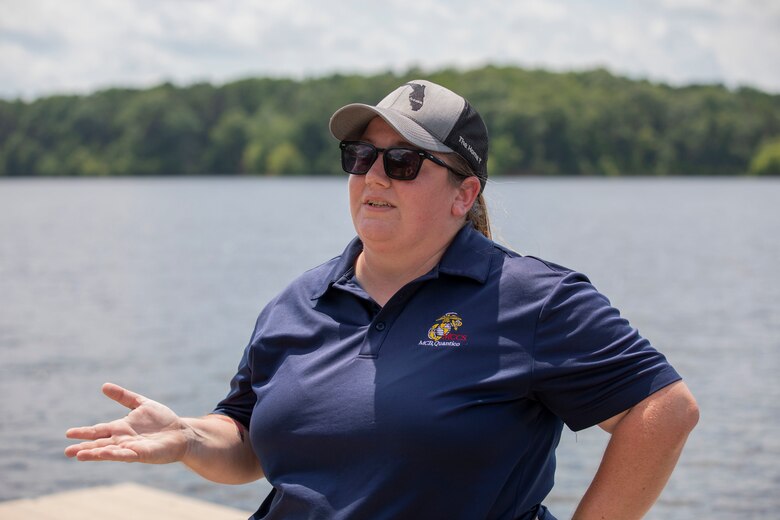
M 449 89 L 418 79 L 401 85 L 376 106 L 352 103 L 330 118 L 336 139 L 358 139 L 376 116 L 414 146 L 432 152 L 455 152 L 487 181 L 487 127 L 466 99 Z

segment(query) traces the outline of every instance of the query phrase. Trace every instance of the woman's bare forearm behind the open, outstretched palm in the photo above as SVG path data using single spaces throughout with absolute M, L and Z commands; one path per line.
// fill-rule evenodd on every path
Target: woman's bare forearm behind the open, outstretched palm
M 224 415 L 183 419 L 189 427 L 181 462 L 208 480 L 245 484 L 263 476 L 246 428 Z

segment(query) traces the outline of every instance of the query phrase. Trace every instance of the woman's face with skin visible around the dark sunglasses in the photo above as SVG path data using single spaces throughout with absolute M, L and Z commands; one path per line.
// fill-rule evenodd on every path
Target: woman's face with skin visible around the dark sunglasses
M 361 140 L 378 148 L 415 148 L 379 117 Z M 414 180 L 390 179 L 380 153 L 366 175 L 349 176 L 352 222 L 366 247 L 394 252 L 441 247 L 457 233 L 471 207 L 461 208 L 462 191 L 449 180 L 446 168 L 430 160 L 422 162 Z

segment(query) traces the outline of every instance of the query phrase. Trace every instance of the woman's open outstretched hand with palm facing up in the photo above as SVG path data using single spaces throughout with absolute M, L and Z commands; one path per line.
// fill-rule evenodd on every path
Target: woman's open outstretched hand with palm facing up
M 103 385 L 103 393 L 130 413 L 109 423 L 69 429 L 66 437 L 86 442 L 68 446 L 66 456 L 148 464 L 182 460 L 193 432 L 170 408 L 112 383 Z

